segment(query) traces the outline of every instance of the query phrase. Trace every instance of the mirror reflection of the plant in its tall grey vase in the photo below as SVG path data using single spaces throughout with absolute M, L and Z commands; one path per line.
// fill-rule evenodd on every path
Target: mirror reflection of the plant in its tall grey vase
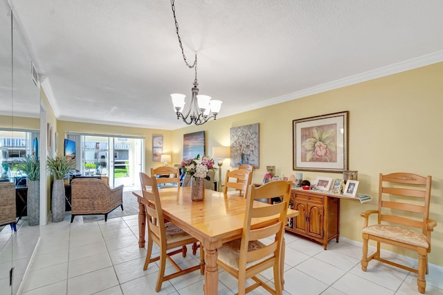
M 35 155 L 28 155 L 17 168 L 28 178 L 26 213 L 30 226 L 40 223 L 40 161 Z

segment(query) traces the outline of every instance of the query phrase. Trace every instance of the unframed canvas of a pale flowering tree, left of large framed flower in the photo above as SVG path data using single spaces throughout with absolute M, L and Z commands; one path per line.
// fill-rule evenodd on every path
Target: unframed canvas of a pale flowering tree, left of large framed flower
M 230 128 L 230 166 L 250 164 L 259 168 L 259 124 Z

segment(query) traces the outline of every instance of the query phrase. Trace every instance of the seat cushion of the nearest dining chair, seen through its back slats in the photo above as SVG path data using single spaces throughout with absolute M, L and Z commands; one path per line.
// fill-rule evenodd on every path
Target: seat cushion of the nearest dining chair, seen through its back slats
M 239 258 L 240 258 L 240 245 L 242 244 L 242 239 L 233 240 L 231 242 L 224 243 L 218 251 L 218 260 L 224 262 L 226 265 L 229 265 L 233 269 L 239 270 Z M 253 251 L 255 249 L 260 249 L 265 245 L 260 241 L 251 241 L 248 245 L 248 251 Z M 246 263 L 246 269 L 252 267 L 254 265 L 259 264 L 260 262 L 272 258 L 273 255 L 266 256 L 260 260 L 255 260 Z

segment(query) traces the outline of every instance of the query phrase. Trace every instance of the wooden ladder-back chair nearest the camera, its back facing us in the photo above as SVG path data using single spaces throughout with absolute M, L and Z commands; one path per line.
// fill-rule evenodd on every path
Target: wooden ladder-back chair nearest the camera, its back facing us
M 284 225 L 287 224 L 287 208 L 291 195 L 291 181 L 271 181 L 256 188 L 250 185 L 246 196 L 242 238 L 226 242 L 218 251 L 217 265 L 238 280 L 238 294 L 246 294 L 262 286 L 271 294 L 282 294 L 282 247 Z M 269 206 L 254 206 L 255 199 L 282 197 L 282 202 Z M 276 215 L 269 224 L 257 226 L 254 220 Z M 275 289 L 257 274 L 273 268 Z M 246 287 L 246 280 L 255 283 Z

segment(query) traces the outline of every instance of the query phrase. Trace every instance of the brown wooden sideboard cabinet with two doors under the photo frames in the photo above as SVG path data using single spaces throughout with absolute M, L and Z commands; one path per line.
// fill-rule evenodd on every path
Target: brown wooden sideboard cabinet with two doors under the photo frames
M 330 240 L 335 238 L 338 242 L 340 201 L 337 197 L 297 189 L 291 191 L 291 199 L 299 215 L 289 220 L 286 231 L 320 242 L 325 250 Z

